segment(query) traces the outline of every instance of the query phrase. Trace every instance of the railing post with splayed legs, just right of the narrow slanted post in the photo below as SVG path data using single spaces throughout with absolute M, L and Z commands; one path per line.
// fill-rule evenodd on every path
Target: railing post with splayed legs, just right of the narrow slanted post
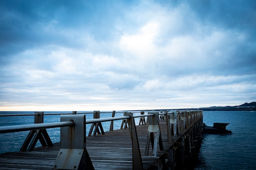
M 153 148 L 153 157 L 156 157 L 158 144 L 159 144 L 160 150 L 164 149 L 161 132 L 159 128 L 159 112 L 151 111 L 151 112 L 148 112 L 148 114 L 154 114 L 154 116 L 148 117 L 148 135 L 146 139 L 145 156 L 148 156 L 148 150 L 149 150 L 149 145 L 151 141 L 151 145 Z

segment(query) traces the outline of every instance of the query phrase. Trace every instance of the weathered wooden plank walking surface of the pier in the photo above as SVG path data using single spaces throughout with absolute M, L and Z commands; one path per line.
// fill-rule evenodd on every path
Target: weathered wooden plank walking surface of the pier
M 144 156 L 148 125 L 136 126 L 144 170 L 162 157 L 172 143 L 167 142 L 165 121 L 160 121 L 164 151 L 158 150 L 157 157 Z M 180 136 L 177 137 L 177 139 Z M 174 139 L 175 140 L 175 139 Z M 86 148 L 95 170 L 132 170 L 132 140 L 127 129 L 105 132 L 86 138 Z M 0 170 L 52 170 L 60 144 L 54 147 L 39 147 L 32 152 L 7 152 L 0 154 Z M 152 155 L 150 147 L 149 155 Z

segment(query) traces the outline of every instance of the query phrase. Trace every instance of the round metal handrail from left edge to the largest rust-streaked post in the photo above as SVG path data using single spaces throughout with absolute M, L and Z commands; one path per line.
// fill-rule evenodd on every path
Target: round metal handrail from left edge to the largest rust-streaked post
M 64 122 L 42 123 L 42 124 L 0 126 L 0 133 L 21 132 L 21 131 L 27 131 L 27 130 L 38 130 L 38 129 L 47 129 L 47 128 L 59 128 L 64 126 L 74 126 L 74 122 L 64 121 Z

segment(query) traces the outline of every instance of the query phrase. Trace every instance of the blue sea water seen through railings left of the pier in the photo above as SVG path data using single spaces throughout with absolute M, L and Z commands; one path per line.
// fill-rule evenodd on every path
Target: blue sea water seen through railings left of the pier
M 91 113 L 86 113 L 86 119 L 93 119 L 93 111 L 86 111 Z M 60 112 L 44 112 L 44 113 L 72 113 L 72 111 L 60 111 Z M 79 113 L 79 112 L 77 112 Z M 85 113 L 85 112 L 80 112 Z M 15 112 L 7 112 L 7 111 L 0 111 L 0 115 L 3 114 L 34 114 L 34 112 L 25 112 L 25 111 L 15 111 Z M 140 113 L 136 113 L 140 114 Z M 124 113 L 115 113 L 115 117 L 123 116 Z M 101 113 L 100 118 L 105 117 L 112 117 L 112 113 Z M 44 116 L 44 123 L 50 122 L 59 122 L 61 120 L 61 115 L 45 115 Z M 120 129 L 122 120 L 114 121 L 113 129 Z M 135 122 L 139 122 L 139 119 L 136 119 Z M 34 124 L 34 116 L 11 116 L 11 117 L 0 117 L 0 126 L 11 126 L 11 125 L 22 125 L 22 124 Z M 102 122 L 104 131 L 109 131 L 110 128 L 110 121 Z M 86 135 L 90 130 L 91 124 L 86 124 Z M 56 143 L 60 141 L 60 134 L 61 128 L 49 128 L 47 132 L 49 134 L 52 143 Z M 12 132 L 12 133 L 2 133 L 0 134 L 0 153 L 5 152 L 15 152 L 19 151 L 23 142 L 25 141 L 29 131 L 24 132 Z M 41 146 L 39 140 L 36 144 L 36 147 Z

